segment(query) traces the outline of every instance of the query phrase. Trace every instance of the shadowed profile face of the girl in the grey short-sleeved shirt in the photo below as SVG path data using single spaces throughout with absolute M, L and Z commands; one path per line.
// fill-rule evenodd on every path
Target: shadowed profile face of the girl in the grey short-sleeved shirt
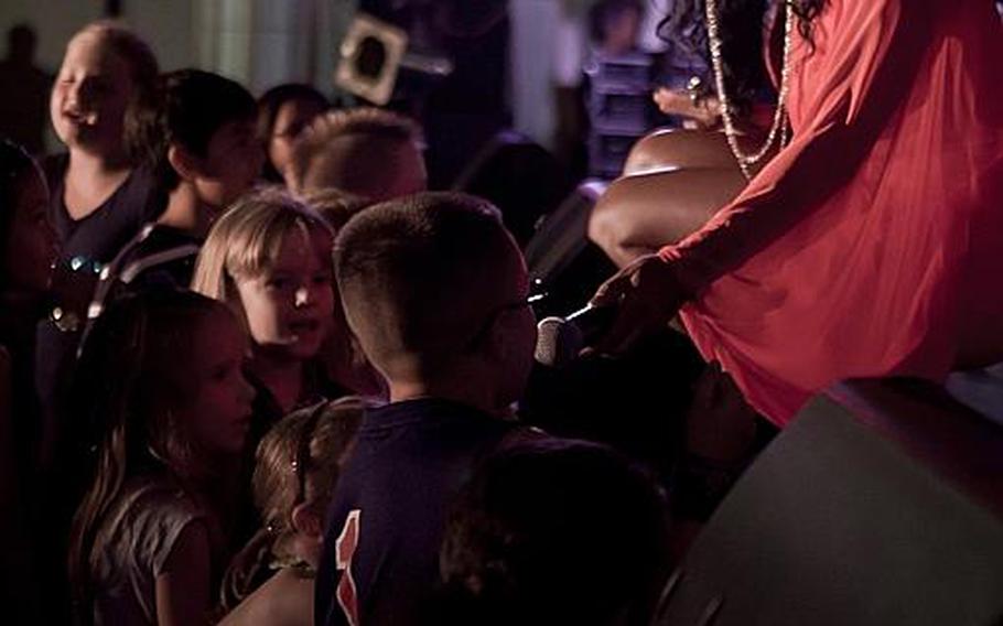
M 244 378 L 241 364 L 247 337 L 227 311 L 205 316 L 194 330 L 191 367 L 194 399 L 186 428 L 201 449 L 237 453 L 250 427 L 254 388 Z

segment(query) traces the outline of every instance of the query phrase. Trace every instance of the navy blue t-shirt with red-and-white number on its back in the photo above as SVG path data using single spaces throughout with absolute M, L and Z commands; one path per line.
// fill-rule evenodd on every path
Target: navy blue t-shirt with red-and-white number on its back
M 369 410 L 328 509 L 316 624 L 416 623 L 439 583 L 453 497 L 476 463 L 518 430 L 433 398 Z

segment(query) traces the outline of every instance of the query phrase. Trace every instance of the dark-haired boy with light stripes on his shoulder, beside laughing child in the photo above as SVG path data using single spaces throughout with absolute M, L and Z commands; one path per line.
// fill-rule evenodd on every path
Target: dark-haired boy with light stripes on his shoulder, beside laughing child
M 181 69 L 161 77 L 155 99 L 157 106 L 138 116 L 137 123 L 166 206 L 103 272 L 89 319 L 126 292 L 186 289 L 209 226 L 261 170 L 255 100 L 239 84 Z

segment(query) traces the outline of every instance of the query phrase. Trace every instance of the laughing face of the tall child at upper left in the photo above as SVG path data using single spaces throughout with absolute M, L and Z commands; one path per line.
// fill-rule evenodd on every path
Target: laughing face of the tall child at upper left
M 50 100 L 52 126 L 69 148 L 101 153 L 122 148 L 122 118 L 132 95 L 129 62 L 106 37 L 83 32 L 71 40 Z

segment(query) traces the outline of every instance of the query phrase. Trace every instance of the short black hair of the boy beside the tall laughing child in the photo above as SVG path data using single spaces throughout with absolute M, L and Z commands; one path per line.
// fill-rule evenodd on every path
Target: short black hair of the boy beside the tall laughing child
M 142 129 L 145 159 L 160 188 L 166 192 L 180 182 L 168 161 L 172 144 L 205 156 L 217 130 L 231 121 L 252 121 L 257 112 L 255 98 L 239 83 L 201 69 L 163 74 L 155 100 L 136 111 L 133 123 Z

